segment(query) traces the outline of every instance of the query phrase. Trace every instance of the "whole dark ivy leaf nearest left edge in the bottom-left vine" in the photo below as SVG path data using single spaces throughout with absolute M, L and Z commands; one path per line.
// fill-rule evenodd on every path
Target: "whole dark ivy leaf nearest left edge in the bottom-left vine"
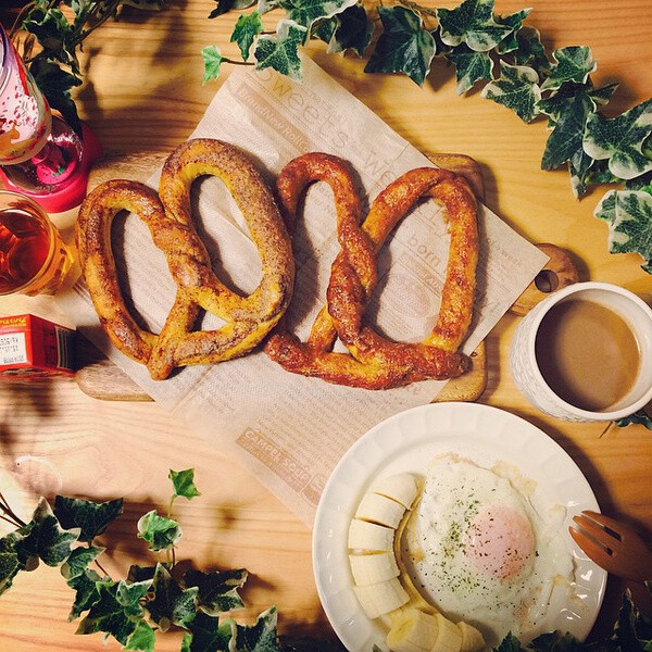
M 18 559 L 26 565 L 30 557 L 39 557 L 48 566 L 65 562 L 80 531 L 79 528 L 62 528 L 45 498 L 40 499 L 32 522 L 22 529 L 25 537 L 16 541 L 15 547 Z

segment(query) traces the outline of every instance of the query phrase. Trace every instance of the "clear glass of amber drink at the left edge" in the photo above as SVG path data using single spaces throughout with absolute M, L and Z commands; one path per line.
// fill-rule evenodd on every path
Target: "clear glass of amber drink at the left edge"
M 18 192 L 0 190 L 0 296 L 53 294 L 72 262 L 41 206 Z

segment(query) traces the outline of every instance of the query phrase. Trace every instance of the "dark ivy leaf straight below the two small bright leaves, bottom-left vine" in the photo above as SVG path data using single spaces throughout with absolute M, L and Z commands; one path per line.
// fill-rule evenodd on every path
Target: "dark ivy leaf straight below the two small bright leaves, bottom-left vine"
M 199 589 L 183 589 L 167 568 L 159 564 L 154 574 L 153 590 L 154 598 L 147 603 L 147 609 L 161 631 L 167 631 L 173 624 L 188 628 L 197 613 Z

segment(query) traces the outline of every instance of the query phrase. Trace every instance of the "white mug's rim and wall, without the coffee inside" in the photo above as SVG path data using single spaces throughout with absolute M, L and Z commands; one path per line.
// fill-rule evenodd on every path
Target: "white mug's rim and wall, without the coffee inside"
M 550 310 L 568 299 L 586 299 L 611 309 L 631 328 L 640 349 L 637 377 L 615 404 L 591 412 L 572 405 L 548 385 L 537 363 L 535 343 L 541 322 Z M 578 283 L 547 297 L 525 317 L 514 333 L 510 348 L 510 367 L 518 389 L 528 401 L 552 416 L 565 421 L 613 421 L 632 414 L 652 400 L 652 309 L 639 297 L 607 283 Z

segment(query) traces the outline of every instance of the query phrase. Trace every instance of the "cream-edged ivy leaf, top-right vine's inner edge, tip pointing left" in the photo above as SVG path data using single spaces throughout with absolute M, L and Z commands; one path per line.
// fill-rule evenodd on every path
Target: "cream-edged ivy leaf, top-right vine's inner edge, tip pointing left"
M 500 77 L 487 84 L 482 97 L 512 109 L 523 122 L 531 122 L 539 113 L 537 102 L 541 89 L 537 72 L 526 65 L 510 65 L 500 62 Z

